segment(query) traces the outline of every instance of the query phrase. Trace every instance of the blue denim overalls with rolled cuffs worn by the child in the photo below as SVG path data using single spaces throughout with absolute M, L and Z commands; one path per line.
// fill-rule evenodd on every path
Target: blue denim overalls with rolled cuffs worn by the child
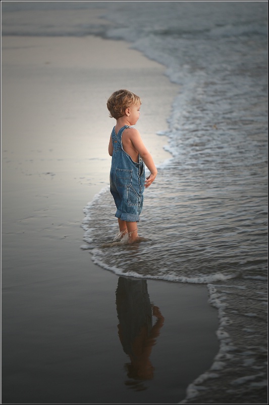
M 123 221 L 139 222 L 143 207 L 145 167 L 140 156 L 139 163 L 136 163 L 123 149 L 122 134 L 126 128 L 130 127 L 125 125 L 117 135 L 115 127 L 112 130 L 110 191 L 117 207 L 115 217 Z

